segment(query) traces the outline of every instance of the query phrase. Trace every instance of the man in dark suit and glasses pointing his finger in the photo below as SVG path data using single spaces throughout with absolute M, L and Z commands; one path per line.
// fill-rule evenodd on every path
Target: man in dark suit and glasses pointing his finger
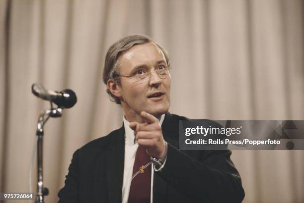
M 150 38 L 113 44 L 103 80 L 124 110 L 120 129 L 78 149 L 60 203 L 238 203 L 240 176 L 226 151 L 180 151 L 179 120 L 170 114 L 170 62 Z M 220 126 L 209 121 L 208 126 Z

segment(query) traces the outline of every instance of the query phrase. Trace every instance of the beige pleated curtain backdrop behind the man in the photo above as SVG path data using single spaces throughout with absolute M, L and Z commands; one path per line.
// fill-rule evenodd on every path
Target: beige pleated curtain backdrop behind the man
M 73 152 L 122 125 L 101 72 L 109 46 L 131 34 L 169 52 L 172 113 L 304 120 L 303 0 L 0 0 L 0 192 L 29 190 L 36 122 L 48 107 L 32 83 L 78 98 L 45 127 L 47 203 L 58 200 Z M 304 151 L 233 151 L 232 160 L 244 203 L 304 202 Z M 36 167 L 33 176 L 36 190 Z

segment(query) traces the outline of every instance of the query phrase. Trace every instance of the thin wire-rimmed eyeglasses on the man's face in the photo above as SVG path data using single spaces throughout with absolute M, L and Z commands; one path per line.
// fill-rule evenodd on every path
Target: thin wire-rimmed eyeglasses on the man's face
M 133 78 L 137 81 L 143 81 L 146 78 L 151 76 L 152 71 L 155 71 L 160 79 L 165 79 L 167 75 L 170 73 L 171 67 L 167 67 L 164 65 L 159 65 L 157 68 L 147 70 L 144 68 L 137 69 L 131 75 L 118 75 L 119 77 Z

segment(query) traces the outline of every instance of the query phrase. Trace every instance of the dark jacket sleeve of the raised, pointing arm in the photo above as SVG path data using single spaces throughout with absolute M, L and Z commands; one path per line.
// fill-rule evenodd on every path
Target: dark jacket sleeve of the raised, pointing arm
M 193 202 L 240 203 L 245 194 L 230 160 L 231 151 L 192 152 L 199 158 L 193 159 L 168 144 L 166 164 L 157 173 Z

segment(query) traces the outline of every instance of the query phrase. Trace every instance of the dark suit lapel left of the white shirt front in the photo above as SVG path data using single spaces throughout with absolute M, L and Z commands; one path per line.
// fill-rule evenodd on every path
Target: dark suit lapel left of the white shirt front
M 122 184 L 125 158 L 125 130 L 122 126 L 114 135 L 114 142 L 108 148 L 106 157 L 106 177 L 110 203 L 120 203 L 122 200 Z

